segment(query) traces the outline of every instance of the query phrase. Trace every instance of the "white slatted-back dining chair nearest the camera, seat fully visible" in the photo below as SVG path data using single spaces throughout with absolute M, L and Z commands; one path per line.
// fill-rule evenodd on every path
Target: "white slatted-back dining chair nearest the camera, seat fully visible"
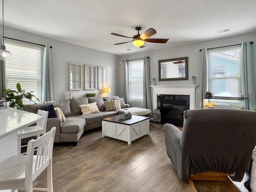
M 0 162 L 0 190 L 23 189 L 53 192 L 52 150 L 56 127 L 28 142 L 26 155 L 14 155 Z M 37 148 L 36 155 L 34 149 Z M 33 181 L 46 169 L 47 188 L 33 188 Z

